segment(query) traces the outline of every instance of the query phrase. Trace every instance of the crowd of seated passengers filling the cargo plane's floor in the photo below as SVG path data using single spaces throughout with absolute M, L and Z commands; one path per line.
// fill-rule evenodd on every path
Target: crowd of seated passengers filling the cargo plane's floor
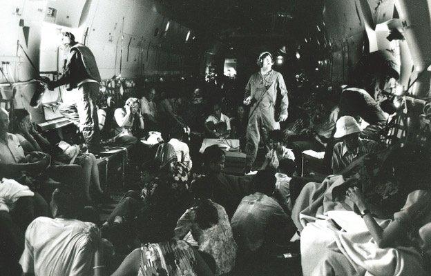
M 48 139 L 26 110 L 0 110 L 0 242 L 8 248 L 0 251 L 1 271 L 277 275 L 274 266 L 300 239 L 304 275 L 426 275 L 431 200 L 424 175 L 431 162 L 424 154 L 421 169 L 408 173 L 400 165 L 406 157 L 392 158 L 400 149 L 376 137 L 387 115 L 362 90 L 347 88 L 360 93 L 378 121 L 346 108 L 352 103 L 342 98 L 299 135 L 269 132 L 255 175 L 229 175 L 222 148 L 195 149 L 204 137 L 244 139 L 247 112 L 212 101 L 204 87 L 189 88 L 182 95 L 180 88 L 151 84 L 144 95 L 126 95 L 124 107 L 100 112 L 111 116 L 113 145 L 128 146 L 149 171 L 140 186 L 123 191 L 104 221 L 97 208 L 84 208 L 112 201 L 100 186 L 97 157 Z M 143 150 L 149 132 L 157 139 Z M 300 177 L 298 160 L 307 149 L 330 152 L 323 181 Z M 47 179 L 58 185 L 42 197 Z M 401 211 L 390 213 L 396 207 Z

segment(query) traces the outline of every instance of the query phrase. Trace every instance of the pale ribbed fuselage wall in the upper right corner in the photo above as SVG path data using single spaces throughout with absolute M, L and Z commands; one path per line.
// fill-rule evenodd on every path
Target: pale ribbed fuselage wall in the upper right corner
M 361 55 L 376 50 L 399 52 L 399 83 L 426 97 L 430 90 L 431 39 L 429 0 L 325 0 L 323 18 L 332 45 L 332 80 L 347 81 Z M 390 26 L 399 26 L 405 39 L 389 41 Z M 392 25 L 391 25 L 392 24 Z M 367 49 L 368 48 L 368 49 Z M 420 72 L 423 72 L 420 74 Z

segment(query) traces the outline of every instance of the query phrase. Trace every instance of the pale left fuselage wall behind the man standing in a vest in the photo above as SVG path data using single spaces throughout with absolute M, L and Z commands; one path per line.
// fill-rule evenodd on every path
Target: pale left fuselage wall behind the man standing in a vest
M 191 58 L 199 55 L 195 32 L 164 17 L 153 0 L 73 2 L 75 6 L 68 0 L 0 0 L 0 61 L 9 63 L 3 65 L 9 81 L 37 77 L 17 41 L 37 69 L 61 72 L 64 53 L 58 42 L 65 30 L 93 51 L 102 79 L 118 77 L 120 68 L 124 78 L 198 72 L 199 61 Z M 58 18 L 48 16 L 51 7 Z M 6 82 L 2 75 L 0 82 Z M 17 86 L 15 107 L 30 110 L 37 122 L 44 121 L 43 110 L 28 105 L 33 90 L 32 84 Z M 58 91 L 46 93 L 42 102 L 56 101 L 58 96 Z

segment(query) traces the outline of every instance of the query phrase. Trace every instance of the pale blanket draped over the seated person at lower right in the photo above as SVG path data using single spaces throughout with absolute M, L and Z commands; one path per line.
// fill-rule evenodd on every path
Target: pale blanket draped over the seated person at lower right
M 326 215 L 327 219 L 307 224 L 301 233 L 304 276 L 426 275 L 416 248 L 379 248 L 354 212 L 329 211 Z M 376 221 L 382 228 L 390 223 L 389 219 Z

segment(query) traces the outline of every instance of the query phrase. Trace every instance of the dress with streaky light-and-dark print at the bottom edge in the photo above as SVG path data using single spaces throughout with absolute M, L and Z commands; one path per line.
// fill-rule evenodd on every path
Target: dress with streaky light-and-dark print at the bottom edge
M 175 239 L 141 247 L 138 276 L 195 276 L 196 259 L 193 249 Z

